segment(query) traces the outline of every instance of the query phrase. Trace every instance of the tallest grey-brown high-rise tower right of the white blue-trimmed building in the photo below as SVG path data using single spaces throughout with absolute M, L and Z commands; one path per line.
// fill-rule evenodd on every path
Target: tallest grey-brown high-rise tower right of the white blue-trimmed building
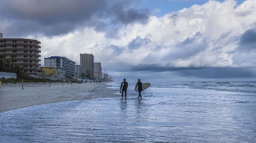
M 94 79 L 94 56 L 93 54 L 80 54 L 80 65 L 90 70 L 89 77 Z

